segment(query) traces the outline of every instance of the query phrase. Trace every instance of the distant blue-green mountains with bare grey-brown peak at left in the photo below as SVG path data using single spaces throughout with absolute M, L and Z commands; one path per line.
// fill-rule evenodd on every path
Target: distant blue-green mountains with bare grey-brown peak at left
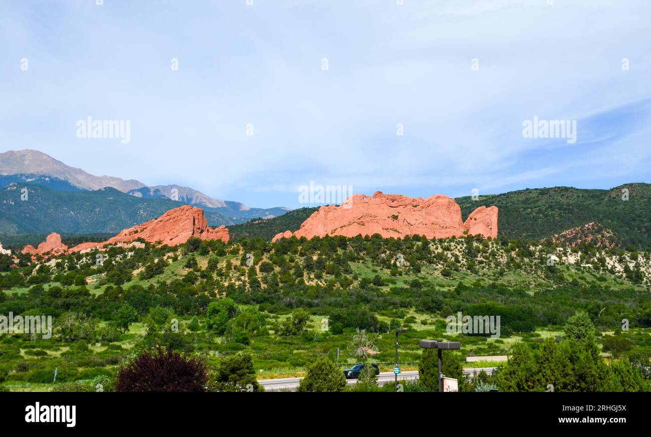
M 29 203 L 16 206 L 15 201 L 20 197 L 16 198 L 14 194 L 25 186 L 29 186 L 35 199 L 47 208 L 36 210 L 36 205 Z M 15 206 L 12 210 L 3 210 L 0 233 L 49 232 L 55 225 L 62 233 L 113 233 L 143 220 L 157 218 L 182 204 L 204 208 L 211 226 L 273 218 L 290 210 L 282 207 L 250 208 L 243 203 L 214 199 L 201 191 L 174 184 L 146 186 L 135 179 L 94 176 L 38 150 L 1 153 L 0 188 L 3 189 L 0 202 Z M 16 188 L 20 190 L 16 191 Z M 109 200 L 113 206 L 106 203 Z M 77 207 L 90 209 L 77 210 Z M 101 211 L 104 219 L 91 219 L 95 215 L 92 211 Z M 63 212 L 65 216 L 62 216 Z M 55 221 L 51 222 L 49 218 Z

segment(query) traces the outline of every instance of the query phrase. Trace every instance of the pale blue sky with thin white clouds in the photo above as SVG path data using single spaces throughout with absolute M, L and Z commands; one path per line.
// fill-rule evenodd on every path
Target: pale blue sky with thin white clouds
M 0 2 L 0 152 L 260 208 L 651 182 L 648 1 L 96 3 Z

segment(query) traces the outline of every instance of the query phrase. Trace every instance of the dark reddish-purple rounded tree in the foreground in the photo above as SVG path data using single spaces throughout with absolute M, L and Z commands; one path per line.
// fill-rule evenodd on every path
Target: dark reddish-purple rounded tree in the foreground
M 198 359 L 160 345 L 120 367 L 116 391 L 206 391 L 208 374 Z

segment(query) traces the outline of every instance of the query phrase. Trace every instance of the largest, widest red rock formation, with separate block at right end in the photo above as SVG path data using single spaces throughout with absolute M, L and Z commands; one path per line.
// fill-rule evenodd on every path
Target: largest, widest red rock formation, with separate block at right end
M 424 235 L 427 238 L 462 236 L 471 234 L 497 236 L 497 207 L 477 208 L 466 220 L 461 218 L 461 208 L 444 195 L 427 199 L 377 191 L 373 197 L 353 194 L 341 206 L 322 206 L 303 222 L 298 231 L 286 231 L 273 237 L 342 235 L 347 237 L 380 234 L 383 237 Z

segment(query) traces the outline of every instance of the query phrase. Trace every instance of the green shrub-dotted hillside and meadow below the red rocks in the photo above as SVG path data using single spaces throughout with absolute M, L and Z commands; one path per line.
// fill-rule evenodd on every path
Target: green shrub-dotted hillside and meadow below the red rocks
M 378 349 L 373 359 L 390 363 L 396 327 L 408 329 L 402 361 L 421 358 L 421 338 L 461 341 L 462 357 L 503 355 L 514 342 L 536 348 L 562 335 L 577 311 L 598 329 L 602 354 L 651 354 L 648 252 L 374 236 L 191 238 L 101 254 L 100 264 L 96 250 L 47 262 L 20 255 L 14 266 L 0 257 L 0 313 L 54 319 L 51 339 L 14 335 L 0 344 L 8 386 L 49 389 L 57 368 L 57 381 L 81 389 L 158 344 L 214 366 L 245 352 L 258 377 L 292 376 L 320 357 L 335 361 L 338 347 L 342 362 L 360 359 L 349 348 L 357 330 Z M 458 311 L 501 317 L 501 336 L 450 334 L 445 317 Z M 630 331 L 621 331 L 622 319 Z

